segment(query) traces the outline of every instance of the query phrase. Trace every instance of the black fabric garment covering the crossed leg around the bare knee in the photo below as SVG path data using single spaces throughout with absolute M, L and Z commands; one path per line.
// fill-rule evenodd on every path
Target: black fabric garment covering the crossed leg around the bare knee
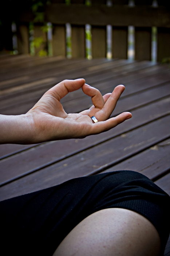
M 149 178 L 118 171 L 75 178 L 0 202 L 1 255 L 50 256 L 88 215 L 126 208 L 158 230 L 163 255 L 170 232 L 170 197 Z

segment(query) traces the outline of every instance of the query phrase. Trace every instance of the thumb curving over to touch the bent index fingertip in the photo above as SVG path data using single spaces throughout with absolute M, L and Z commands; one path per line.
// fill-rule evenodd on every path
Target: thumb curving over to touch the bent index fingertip
M 46 94 L 50 94 L 60 101 L 60 99 L 66 96 L 68 93 L 80 89 L 84 83 L 85 80 L 83 78 L 64 80 L 48 90 Z

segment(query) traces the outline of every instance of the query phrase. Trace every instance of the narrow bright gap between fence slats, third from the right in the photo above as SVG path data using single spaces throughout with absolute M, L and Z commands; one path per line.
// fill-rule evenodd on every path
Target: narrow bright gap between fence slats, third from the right
M 106 5 L 112 6 L 112 0 L 107 0 Z M 106 57 L 108 60 L 110 60 L 110 59 L 112 59 L 112 26 L 107 25 L 106 31 L 107 31 L 107 55 L 106 55 Z

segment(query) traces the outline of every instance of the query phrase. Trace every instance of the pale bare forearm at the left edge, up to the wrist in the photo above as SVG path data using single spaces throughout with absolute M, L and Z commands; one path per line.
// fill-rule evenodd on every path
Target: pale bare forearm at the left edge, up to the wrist
M 33 127 L 30 114 L 0 115 L 0 144 L 31 144 L 33 141 Z

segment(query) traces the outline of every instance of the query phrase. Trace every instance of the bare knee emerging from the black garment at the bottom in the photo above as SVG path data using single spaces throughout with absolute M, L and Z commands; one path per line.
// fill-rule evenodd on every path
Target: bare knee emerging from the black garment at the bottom
M 153 224 L 137 212 L 109 208 L 91 214 L 61 242 L 53 256 L 158 256 Z

